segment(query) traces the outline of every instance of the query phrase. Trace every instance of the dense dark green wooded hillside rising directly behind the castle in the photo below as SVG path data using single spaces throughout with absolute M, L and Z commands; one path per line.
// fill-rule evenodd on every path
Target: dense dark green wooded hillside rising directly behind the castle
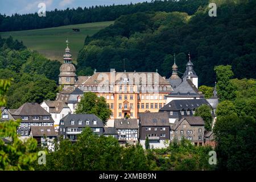
M 217 2 L 217 17 L 208 6 L 195 14 L 147 12 L 123 15 L 112 26 L 85 39 L 77 73 L 88 68 L 109 71 L 156 71 L 170 77 L 176 64 L 184 72 L 191 52 L 200 84 L 214 85 L 214 66 L 232 65 L 234 77 L 256 78 L 256 1 Z M 182 76 L 182 74 L 180 74 Z

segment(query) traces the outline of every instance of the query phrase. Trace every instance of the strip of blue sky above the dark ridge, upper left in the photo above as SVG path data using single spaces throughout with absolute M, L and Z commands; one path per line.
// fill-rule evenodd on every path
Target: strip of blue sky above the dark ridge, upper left
M 36 13 L 39 10 L 39 3 L 43 2 L 46 4 L 46 11 L 54 9 L 67 9 L 96 5 L 125 5 L 130 2 L 138 3 L 146 0 L 0 0 L 0 13 L 11 15 L 11 14 L 27 14 Z M 147 0 L 150 2 L 151 0 Z

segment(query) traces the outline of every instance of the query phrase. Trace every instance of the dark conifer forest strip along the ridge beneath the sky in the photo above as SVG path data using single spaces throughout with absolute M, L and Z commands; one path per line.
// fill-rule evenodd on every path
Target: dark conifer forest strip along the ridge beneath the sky
M 31 30 L 37 28 L 58 27 L 68 24 L 103 22 L 115 20 L 121 15 L 133 14 L 139 11 L 183 11 L 193 14 L 200 6 L 208 4 L 208 0 L 169 0 L 152 1 L 129 5 L 78 7 L 47 11 L 45 17 L 37 13 L 11 16 L 0 14 L 0 31 Z

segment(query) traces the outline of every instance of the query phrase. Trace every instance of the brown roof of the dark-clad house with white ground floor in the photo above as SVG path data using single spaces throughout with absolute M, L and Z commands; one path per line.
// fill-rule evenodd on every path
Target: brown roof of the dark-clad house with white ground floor
M 170 126 L 168 113 L 141 113 L 141 126 Z

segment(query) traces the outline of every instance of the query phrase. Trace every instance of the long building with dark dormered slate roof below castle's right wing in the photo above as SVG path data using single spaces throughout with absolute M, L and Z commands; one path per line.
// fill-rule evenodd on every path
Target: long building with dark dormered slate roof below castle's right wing
M 172 100 L 159 109 L 159 112 L 168 113 L 170 123 L 174 123 L 176 119 L 180 120 L 183 117 L 193 116 L 196 108 L 203 104 L 210 106 L 204 98 L 194 100 Z

